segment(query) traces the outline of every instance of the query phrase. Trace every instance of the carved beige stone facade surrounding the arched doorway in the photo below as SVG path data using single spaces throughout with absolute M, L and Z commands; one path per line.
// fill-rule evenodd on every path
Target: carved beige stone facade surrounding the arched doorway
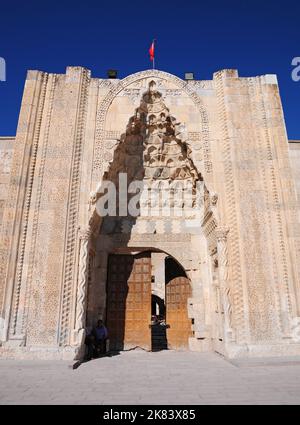
M 108 255 L 145 249 L 190 279 L 190 349 L 300 354 L 299 146 L 273 75 L 29 71 L 16 138 L 0 139 L 1 355 L 80 356 L 85 325 L 105 317 Z M 160 204 L 102 219 L 99 188 L 120 173 L 199 183 L 201 202 L 188 220 Z

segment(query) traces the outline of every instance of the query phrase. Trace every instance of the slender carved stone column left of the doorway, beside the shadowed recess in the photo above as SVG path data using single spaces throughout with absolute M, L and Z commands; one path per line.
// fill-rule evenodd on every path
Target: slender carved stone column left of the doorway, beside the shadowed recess
M 74 343 L 76 346 L 80 346 L 83 343 L 83 339 L 85 336 L 84 328 L 88 285 L 89 242 L 91 233 L 91 229 L 83 229 L 79 231 L 80 249 L 74 330 Z

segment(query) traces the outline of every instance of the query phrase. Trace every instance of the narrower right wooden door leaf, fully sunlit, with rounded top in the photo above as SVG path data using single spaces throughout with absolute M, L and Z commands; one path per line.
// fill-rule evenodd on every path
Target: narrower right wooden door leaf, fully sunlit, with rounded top
M 187 349 L 192 336 L 192 321 L 188 318 L 188 298 L 191 297 L 190 282 L 186 277 L 176 277 L 166 285 L 166 322 L 168 347 Z

